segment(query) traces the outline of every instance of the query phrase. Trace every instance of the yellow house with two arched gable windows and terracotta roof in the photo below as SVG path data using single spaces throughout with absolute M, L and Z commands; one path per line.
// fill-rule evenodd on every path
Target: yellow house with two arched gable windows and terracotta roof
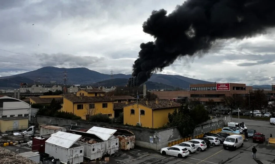
M 138 101 L 123 107 L 124 124 L 159 128 L 168 123 L 168 113 L 180 107 L 180 103 L 169 100 Z

